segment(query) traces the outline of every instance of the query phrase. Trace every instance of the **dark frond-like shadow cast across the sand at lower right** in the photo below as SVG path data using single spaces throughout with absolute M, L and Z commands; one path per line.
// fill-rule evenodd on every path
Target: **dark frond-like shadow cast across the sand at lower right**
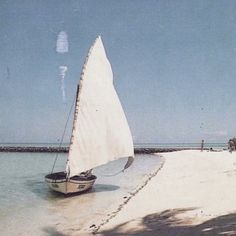
M 215 236 L 236 235 L 236 213 L 213 218 L 199 225 L 188 225 L 189 222 L 177 218 L 178 214 L 193 209 L 173 209 L 150 214 L 142 218 L 143 229 L 131 229 L 125 232 L 126 222 L 117 227 L 100 231 L 99 235 L 155 235 L 155 236 Z

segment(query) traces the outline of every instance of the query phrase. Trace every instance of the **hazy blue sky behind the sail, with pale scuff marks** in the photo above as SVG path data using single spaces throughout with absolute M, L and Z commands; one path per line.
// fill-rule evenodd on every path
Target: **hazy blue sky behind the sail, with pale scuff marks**
M 0 143 L 61 139 L 97 35 L 135 143 L 236 136 L 236 1 L 1 0 Z

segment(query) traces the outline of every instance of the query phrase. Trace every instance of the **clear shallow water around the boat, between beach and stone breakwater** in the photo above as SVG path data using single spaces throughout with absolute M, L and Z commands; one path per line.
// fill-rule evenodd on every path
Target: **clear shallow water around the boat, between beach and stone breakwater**
M 55 154 L 0 153 L 1 235 L 66 235 L 89 229 L 115 211 L 148 174 L 162 163 L 155 155 L 137 155 L 134 164 L 121 170 L 126 159 L 94 170 L 98 179 L 84 194 L 65 198 L 51 192 L 44 176 L 51 171 Z M 59 154 L 55 171 L 64 170 L 66 154 Z

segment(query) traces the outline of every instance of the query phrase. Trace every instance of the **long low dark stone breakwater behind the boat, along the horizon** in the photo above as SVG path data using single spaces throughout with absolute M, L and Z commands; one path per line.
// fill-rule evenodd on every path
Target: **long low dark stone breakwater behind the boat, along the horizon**
M 205 148 L 204 150 L 208 150 Z M 137 147 L 134 148 L 135 154 L 151 154 L 151 153 L 161 153 L 161 152 L 174 152 L 183 150 L 200 150 L 200 148 L 151 148 L 151 147 Z M 51 153 L 67 153 L 69 152 L 69 147 L 45 147 L 45 146 L 0 146 L 0 152 L 51 152 Z

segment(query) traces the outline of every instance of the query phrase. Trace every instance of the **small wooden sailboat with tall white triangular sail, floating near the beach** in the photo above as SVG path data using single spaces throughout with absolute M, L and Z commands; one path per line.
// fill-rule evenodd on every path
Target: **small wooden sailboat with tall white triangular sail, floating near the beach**
M 127 119 L 113 85 L 113 73 L 98 36 L 86 57 L 77 86 L 73 127 L 65 171 L 45 176 L 52 190 L 63 194 L 92 188 L 92 169 L 128 157 L 134 147 Z

